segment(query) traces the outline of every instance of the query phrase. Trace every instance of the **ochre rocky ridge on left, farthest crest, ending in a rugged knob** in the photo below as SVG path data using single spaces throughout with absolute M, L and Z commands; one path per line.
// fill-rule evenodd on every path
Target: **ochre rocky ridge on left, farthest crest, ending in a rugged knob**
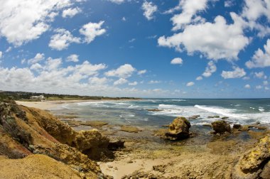
M 34 119 L 38 125 L 45 129 L 50 136 L 60 143 L 77 148 L 89 158 L 99 160 L 112 158 L 112 151 L 109 151 L 109 139 L 99 131 L 74 131 L 68 124 L 63 124 L 55 116 L 40 109 L 22 107 L 27 112 L 28 119 Z

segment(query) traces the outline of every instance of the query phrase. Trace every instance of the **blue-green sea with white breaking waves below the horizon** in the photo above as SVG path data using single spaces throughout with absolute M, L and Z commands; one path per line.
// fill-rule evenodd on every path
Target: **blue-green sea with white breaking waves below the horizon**
M 161 109 L 148 112 L 146 109 Z M 73 112 L 80 120 L 101 120 L 109 124 L 131 124 L 158 127 L 169 124 L 175 116 L 200 115 L 190 120 L 193 126 L 209 124 L 217 119 L 207 116 L 227 116 L 232 124 L 252 124 L 259 121 L 270 126 L 270 99 L 142 99 L 139 101 L 97 101 L 63 104 L 63 113 Z

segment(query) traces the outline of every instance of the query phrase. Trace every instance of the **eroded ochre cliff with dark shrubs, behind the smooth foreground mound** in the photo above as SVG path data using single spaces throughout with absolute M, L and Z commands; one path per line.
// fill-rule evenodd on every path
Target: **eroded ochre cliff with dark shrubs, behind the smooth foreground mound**
M 48 112 L 18 106 L 13 101 L 0 102 L 1 156 L 18 159 L 43 154 L 80 175 L 97 178 L 101 170 L 90 158 L 112 156 L 108 145 L 109 139 L 96 130 L 76 132 Z

